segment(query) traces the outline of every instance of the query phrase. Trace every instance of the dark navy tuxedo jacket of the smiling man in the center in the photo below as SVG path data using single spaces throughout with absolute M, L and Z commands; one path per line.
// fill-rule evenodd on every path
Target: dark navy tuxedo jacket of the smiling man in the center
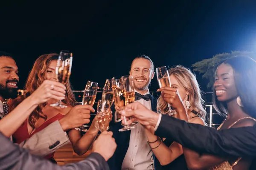
M 157 111 L 157 100 L 151 95 L 151 110 Z M 116 112 L 114 109 L 114 104 L 111 107 L 113 114 Z M 122 162 L 125 159 L 125 154 L 128 150 L 129 143 L 130 143 L 130 135 L 131 130 L 125 132 L 119 132 L 118 130 L 121 129 L 123 126 L 121 122 L 114 123 L 114 116 L 113 120 L 110 124 L 110 130 L 113 132 L 113 138 L 116 140 L 116 151 L 111 159 L 108 160 L 108 165 L 111 170 L 121 170 L 122 169 Z M 154 156 L 154 155 L 153 155 Z M 158 164 L 157 159 L 154 157 L 155 167 Z

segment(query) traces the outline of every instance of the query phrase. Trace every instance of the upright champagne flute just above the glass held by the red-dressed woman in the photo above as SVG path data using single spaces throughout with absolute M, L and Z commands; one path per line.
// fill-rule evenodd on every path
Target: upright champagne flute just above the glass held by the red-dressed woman
M 111 79 L 106 79 L 105 85 L 103 87 L 102 101 L 108 102 L 110 107 L 113 104 L 114 99 Z

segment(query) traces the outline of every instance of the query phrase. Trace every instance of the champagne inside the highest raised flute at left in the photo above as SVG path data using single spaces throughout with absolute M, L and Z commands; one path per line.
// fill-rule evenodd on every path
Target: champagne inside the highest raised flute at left
M 65 60 L 58 59 L 57 62 L 56 72 L 58 75 L 58 81 L 64 85 L 67 83 L 71 74 L 70 63 L 72 63 L 72 57 Z

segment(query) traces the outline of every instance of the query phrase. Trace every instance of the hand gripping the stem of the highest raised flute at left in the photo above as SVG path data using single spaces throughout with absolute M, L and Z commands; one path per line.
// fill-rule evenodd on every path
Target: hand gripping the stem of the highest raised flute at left
M 65 99 L 66 87 L 60 82 L 45 80 L 35 91 L 31 94 L 37 105 L 47 102 L 49 99 L 63 100 Z

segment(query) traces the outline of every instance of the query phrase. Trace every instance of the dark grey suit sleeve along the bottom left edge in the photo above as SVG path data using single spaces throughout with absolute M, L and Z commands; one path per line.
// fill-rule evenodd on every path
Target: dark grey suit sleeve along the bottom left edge
M 28 150 L 13 144 L 0 133 L 0 170 L 109 170 L 99 153 L 91 153 L 87 159 L 74 164 L 58 166 L 46 159 L 32 156 Z

